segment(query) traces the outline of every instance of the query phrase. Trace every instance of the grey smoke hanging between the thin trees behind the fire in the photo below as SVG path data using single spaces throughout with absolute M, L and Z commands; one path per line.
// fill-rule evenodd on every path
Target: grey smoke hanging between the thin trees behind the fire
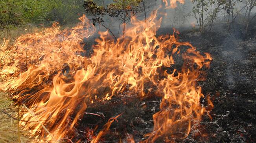
M 207 0 L 204 1 L 207 2 Z M 98 5 L 103 5 L 104 7 L 106 7 L 112 2 L 112 0 L 104 0 L 103 4 L 102 0 L 98 2 Z M 199 14 L 193 13 L 193 7 L 197 5 L 197 2 L 192 2 L 192 0 L 185 0 L 184 4 L 176 2 L 176 5 L 177 7 L 175 8 L 166 9 L 162 0 L 144 0 L 144 5 L 143 3 L 140 3 L 139 10 L 135 14 L 135 16 L 136 18 L 143 20 L 145 16 L 148 18 L 152 13 L 154 13 L 154 11 L 157 11 L 158 17 L 162 18 L 161 29 L 169 30 L 175 28 L 179 30 L 179 32 L 182 32 L 184 30 L 199 29 Z M 205 30 L 212 30 L 214 32 L 218 32 L 225 35 L 230 34 L 231 37 L 234 37 L 236 39 L 243 37 L 245 14 L 247 12 L 246 0 L 243 2 L 239 2 L 235 5 L 233 18 L 230 17 L 231 13 L 227 11 L 227 8 L 224 10 L 225 5 L 219 6 L 219 12 L 216 14 L 216 18 L 213 20 L 212 24 L 209 24 L 212 21 L 209 19 L 209 17 L 211 16 L 212 12 L 215 11 L 216 7 L 218 7 L 217 1 L 215 2 L 215 4 L 212 4 L 209 7 L 207 7 L 207 10 L 204 11 Z M 254 14 L 256 14 L 255 8 L 252 9 L 251 15 L 254 16 Z M 90 17 L 90 14 L 87 14 L 87 16 Z M 107 29 L 109 29 L 117 37 L 122 35 L 123 21 L 120 21 L 118 20 L 118 18 L 111 17 L 108 15 L 104 15 L 103 20 L 103 24 L 105 25 L 105 27 L 96 23 L 96 29 L 98 31 L 106 31 Z M 131 20 L 128 20 L 126 26 L 129 27 L 129 25 L 131 24 L 130 22 Z M 166 32 L 171 31 L 169 30 Z

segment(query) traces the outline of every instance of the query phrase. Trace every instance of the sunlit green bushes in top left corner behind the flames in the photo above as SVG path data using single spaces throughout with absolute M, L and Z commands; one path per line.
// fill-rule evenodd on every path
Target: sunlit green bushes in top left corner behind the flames
M 51 25 L 76 22 L 83 0 L 0 0 L 0 26 L 35 23 Z M 13 9 L 11 9 L 13 5 Z M 10 17 L 10 18 L 9 18 Z

